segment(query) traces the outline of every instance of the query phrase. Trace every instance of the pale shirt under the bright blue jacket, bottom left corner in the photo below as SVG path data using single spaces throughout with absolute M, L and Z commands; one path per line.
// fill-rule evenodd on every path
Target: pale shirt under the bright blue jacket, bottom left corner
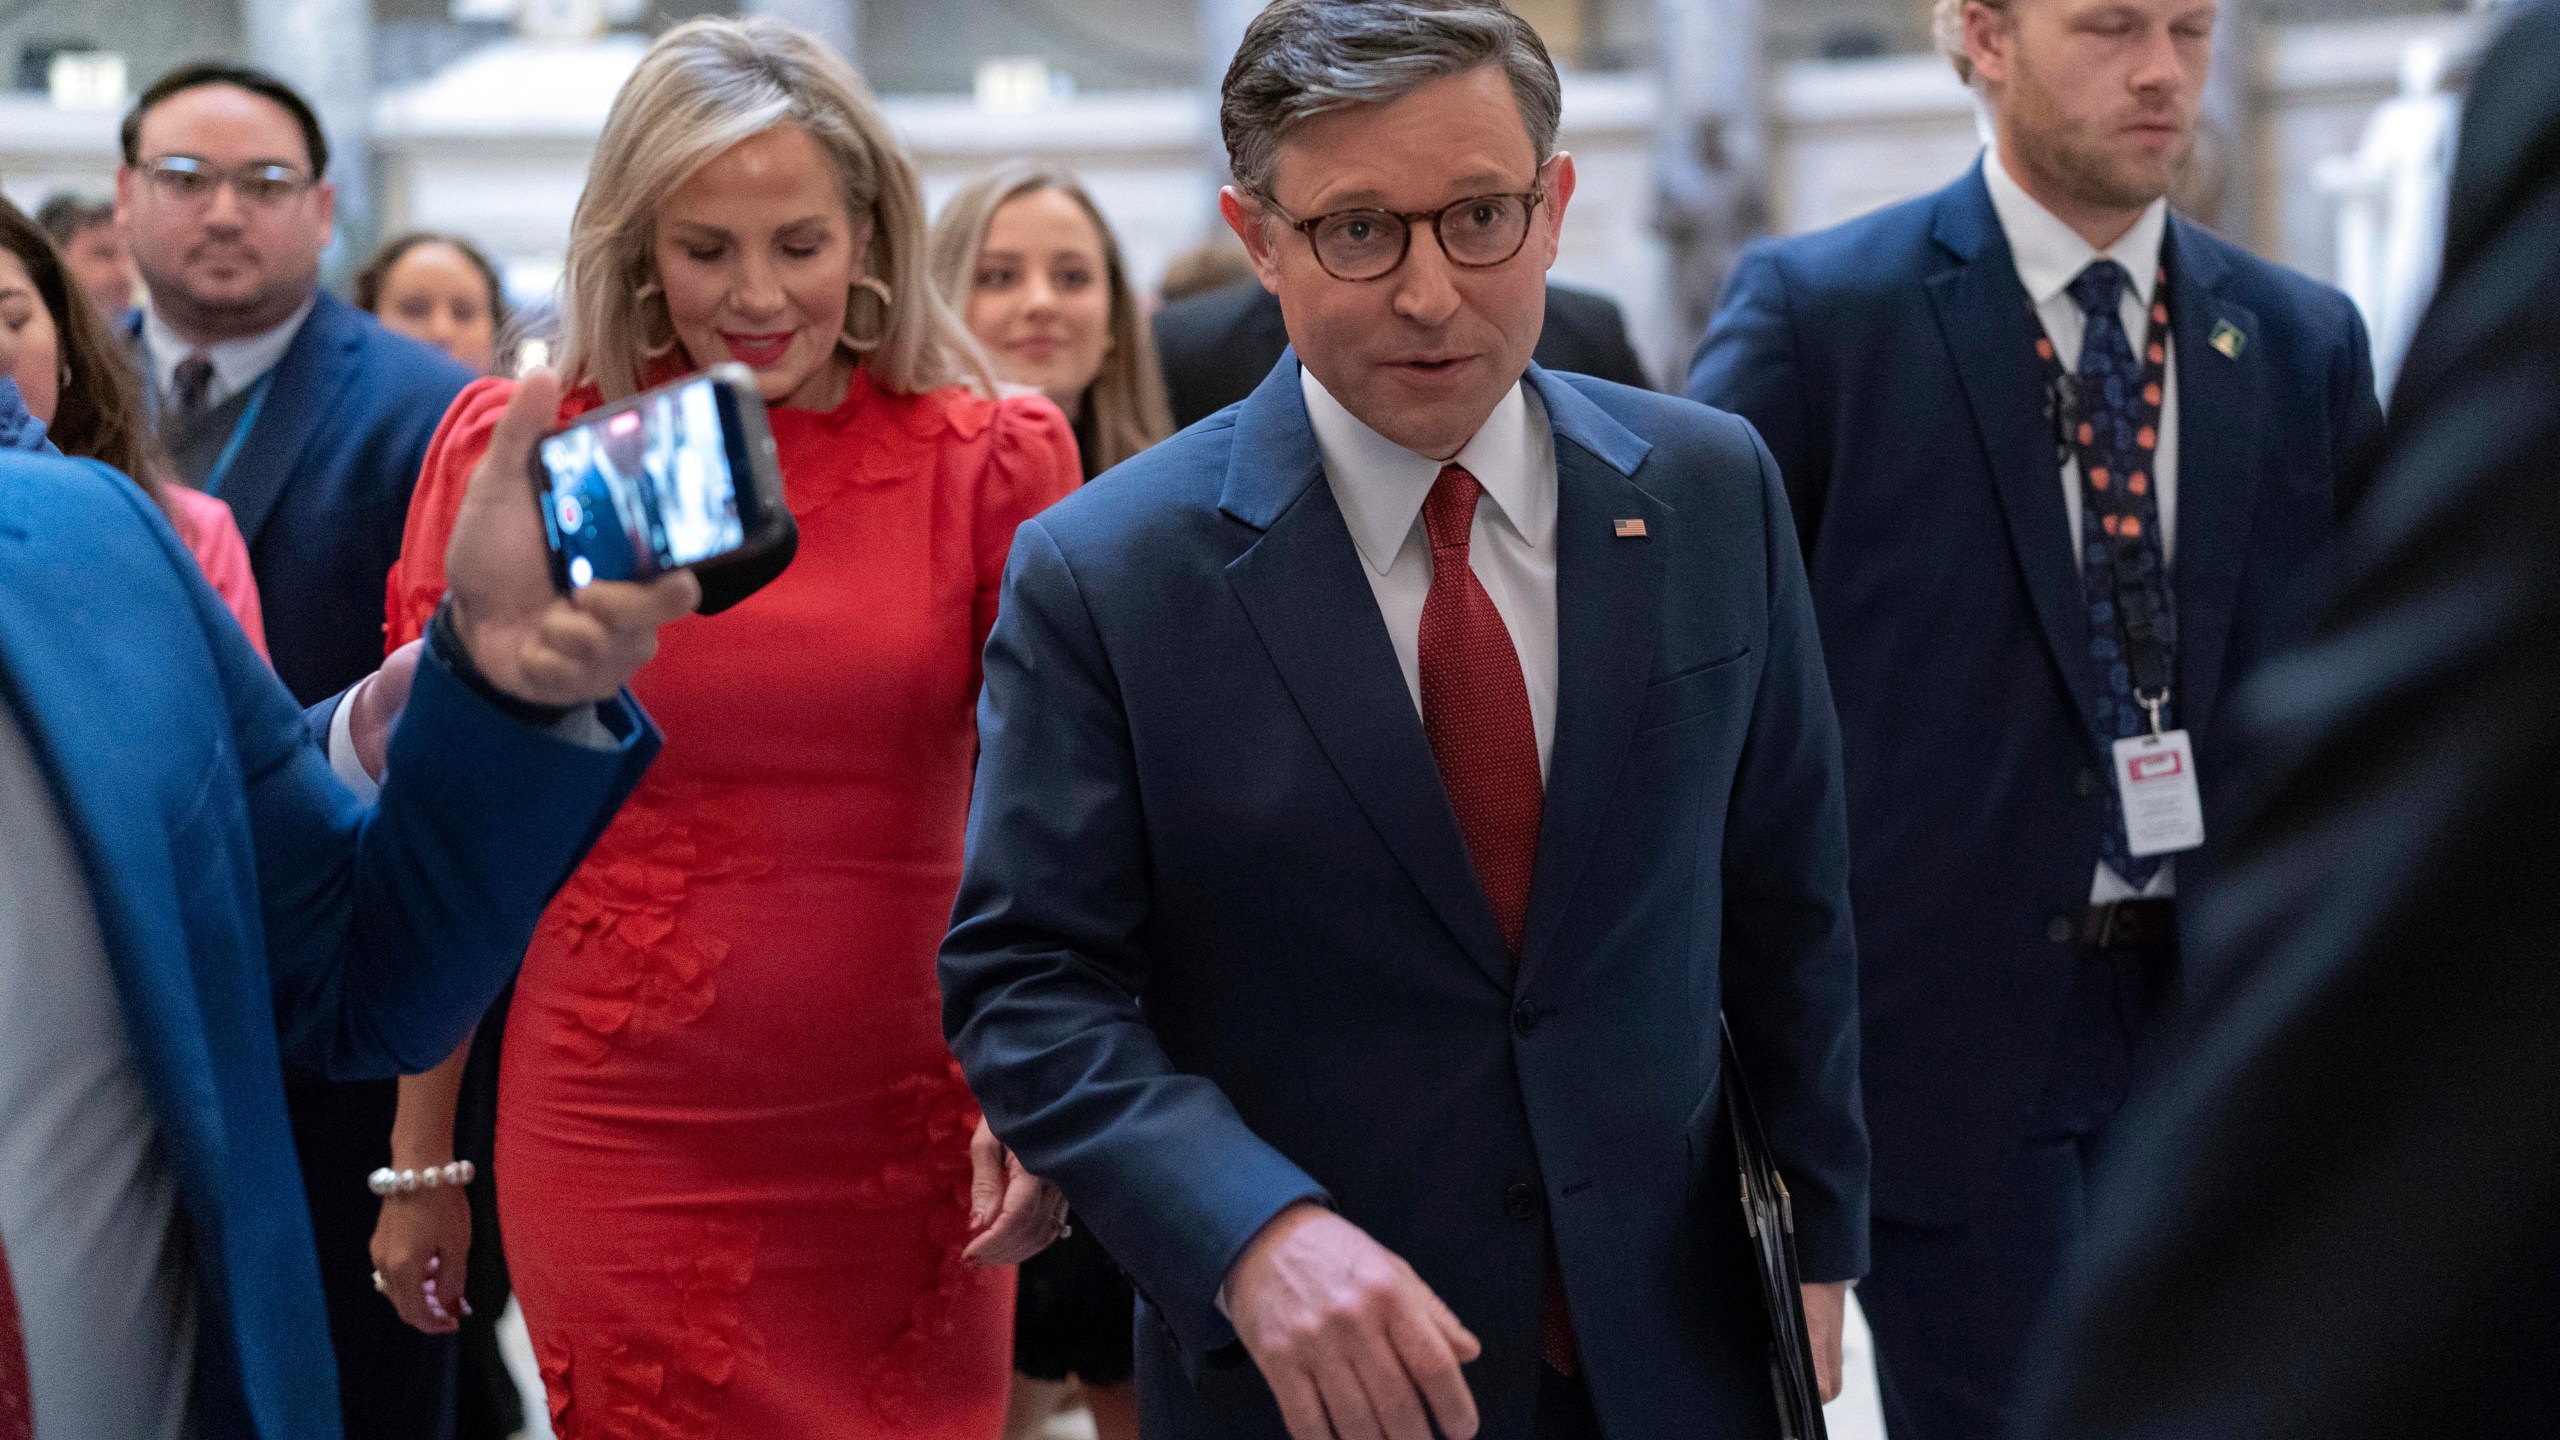
M 197 1286 L 97 907 L 0 702 L 0 1240 L 41 1440 L 189 1435 Z

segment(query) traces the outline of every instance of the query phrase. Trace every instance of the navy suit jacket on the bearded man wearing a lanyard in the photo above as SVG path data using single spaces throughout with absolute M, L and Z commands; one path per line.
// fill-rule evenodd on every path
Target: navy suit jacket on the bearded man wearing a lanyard
M 2345 295 L 2171 218 L 2176 710 L 2222 830 L 2232 676 L 2296 630 L 2340 461 L 2381 425 Z M 2237 331 L 2237 354 L 2212 346 Z M 1769 438 L 1823 620 L 1848 833 L 1876 1215 L 1953 1222 L 2022 1140 L 2089 904 L 2089 720 L 2035 313 L 1981 169 L 1754 246 L 1690 395 Z M 2179 858 L 2181 889 L 2212 848 Z

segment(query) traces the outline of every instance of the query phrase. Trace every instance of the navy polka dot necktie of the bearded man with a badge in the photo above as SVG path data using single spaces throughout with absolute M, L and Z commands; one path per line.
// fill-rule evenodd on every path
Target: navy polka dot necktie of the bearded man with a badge
M 2099 751 L 2150 733 L 2150 712 L 2135 700 L 2132 664 L 2125 656 L 2120 602 L 2148 605 L 2168 620 L 2168 564 L 2161 553 L 2161 497 L 2150 471 L 2161 446 L 2161 387 L 2135 359 L 2125 338 L 2122 297 L 2132 277 L 2112 259 L 2094 261 L 2071 282 L 2071 300 L 2086 315 L 2079 364 L 2079 454 L 2081 454 L 2081 592 L 2089 600 L 2089 664 L 2099 682 Z M 2158 351 L 2168 320 L 2168 297 L 2153 297 L 2150 348 Z M 2117 566 L 2132 577 L 2122 594 Z M 2161 707 L 2161 728 L 2176 720 Z M 2107 869 L 2143 889 L 2161 871 L 2161 856 L 2135 858 L 2125 846 L 2125 810 L 2115 784 L 2107 794 L 2107 828 L 2099 858 Z

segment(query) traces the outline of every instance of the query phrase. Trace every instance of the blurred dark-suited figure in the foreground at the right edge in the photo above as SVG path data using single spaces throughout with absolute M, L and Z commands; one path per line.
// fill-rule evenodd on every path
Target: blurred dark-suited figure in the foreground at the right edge
M 2481 64 L 2445 279 L 2130 1122 L 2033 1435 L 2560 1425 L 2560 5 Z

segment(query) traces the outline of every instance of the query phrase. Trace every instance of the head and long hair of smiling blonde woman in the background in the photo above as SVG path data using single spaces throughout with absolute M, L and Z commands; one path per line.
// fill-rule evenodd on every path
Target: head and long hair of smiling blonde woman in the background
M 1085 479 L 1172 433 L 1119 241 L 1073 174 L 1014 161 L 963 184 L 934 220 L 932 274 L 996 374 L 1068 413 Z

